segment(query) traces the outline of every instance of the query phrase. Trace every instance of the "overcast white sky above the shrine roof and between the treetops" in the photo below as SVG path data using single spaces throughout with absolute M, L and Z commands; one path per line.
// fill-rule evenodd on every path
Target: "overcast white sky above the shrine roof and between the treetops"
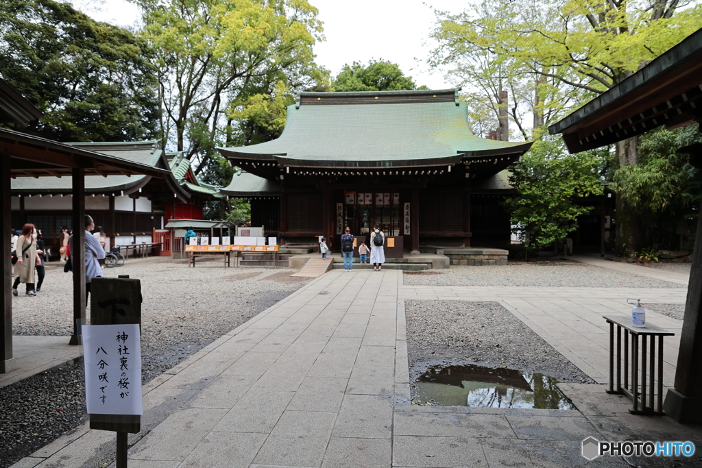
M 134 25 L 138 8 L 125 0 L 74 0 L 77 8 L 96 20 L 119 26 Z M 399 65 L 417 86 L 452 88 L 440 72 L 430 72 L 426 60 L 433 44 L 429 33 L 435 21 L 432 6 L 458 13 L 470 5 L 460 0 L 310 0 L 319 8 L 326 41 L 314 47 L 317 63 L 336 75 L 345 63 L 388 60 Z M 426 44 L 426 45 L 425 45 Z

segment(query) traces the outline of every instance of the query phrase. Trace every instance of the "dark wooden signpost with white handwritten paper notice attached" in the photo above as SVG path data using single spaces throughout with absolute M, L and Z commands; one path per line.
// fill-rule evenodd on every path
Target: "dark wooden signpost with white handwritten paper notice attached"
M 90 427 L 117 432 L 117 468 L 126 468 L 127 434 L 140 431 L 143 414 L 141 282 L 93 278 L 91 294 L 91 325 L 83 333 Z

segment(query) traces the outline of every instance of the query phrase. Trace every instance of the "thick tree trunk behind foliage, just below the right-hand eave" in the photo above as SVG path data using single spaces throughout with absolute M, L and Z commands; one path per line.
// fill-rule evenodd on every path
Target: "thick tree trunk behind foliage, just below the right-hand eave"
M 638 137 L 627 138 L 616 144 L 615 167 L 636 166 L 639 162 Z M 616 250 L 618 255 L 633 257 L 641 246 L 639 216 L 621 196 L 616 197 Z

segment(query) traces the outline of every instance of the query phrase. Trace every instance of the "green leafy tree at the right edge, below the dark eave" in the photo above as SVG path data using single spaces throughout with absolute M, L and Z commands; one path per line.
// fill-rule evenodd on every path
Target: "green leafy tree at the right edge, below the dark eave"
M 658 129 L 639 138 L 639 161 L 614 173 L 611 188 L 640 217 L 642 245 L 677 249 L 681 220 L 694 220 L 702 194 L 697 169 L 677 149 L 702 142 L 696 126 Z M 694 226 L 694 223 L 690 222 Z

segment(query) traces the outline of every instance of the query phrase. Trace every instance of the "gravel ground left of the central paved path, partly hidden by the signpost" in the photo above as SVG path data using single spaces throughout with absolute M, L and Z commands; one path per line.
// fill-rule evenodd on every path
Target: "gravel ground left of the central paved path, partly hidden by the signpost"
M 310 281 L 289 277 L 292 272 L 223 268 L 218 259 L 200 259 L 190 268 L 187 260 L 168 258 L 128 260 L 123 267 L 103 270 L 106 277 L 128 274 L 141 280 L 144 383 Z M 41 292 L 13 300 L 13 334 L 70 336 L 71 278 L 62 265 L 48 265 Z M 79 362 L 0 388 L 0 468 L 77 427 L 85 415 L 83 385 Z M 47 388 L 51 399 L 44 401 L 41 393 Z

